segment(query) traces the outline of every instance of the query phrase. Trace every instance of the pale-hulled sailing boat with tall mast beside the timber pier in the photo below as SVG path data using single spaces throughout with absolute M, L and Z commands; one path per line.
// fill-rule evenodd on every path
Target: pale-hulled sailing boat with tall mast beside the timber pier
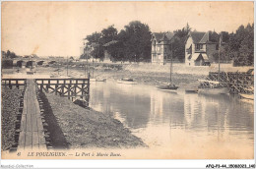
M 219 43 L 219 70 L 218 70 L 218 81 L 207 81 L 207 80 L 198 80 L 200 82 L 198 92 L 204 94 L 227 94 L 228 88 L 223 86 L 220 83 L 220 72 L 221 72 L 221 64 L 220 64 L 220 50 L 222 44 L 222 34 L 220 35 L 220 43 Z

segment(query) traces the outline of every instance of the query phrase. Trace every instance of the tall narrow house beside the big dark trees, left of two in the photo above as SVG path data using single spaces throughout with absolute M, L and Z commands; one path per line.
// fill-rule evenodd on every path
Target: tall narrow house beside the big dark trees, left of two
M 165 64 L 171 56 L 173 32 L 154 32 L 152 35 L 152 63 Z

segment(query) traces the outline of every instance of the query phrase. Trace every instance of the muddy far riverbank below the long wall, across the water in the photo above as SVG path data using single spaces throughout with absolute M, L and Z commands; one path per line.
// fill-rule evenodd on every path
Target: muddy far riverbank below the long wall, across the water
M 93 68 L 89 70 L 91 78 L 96 79 L 106 79 L 106 81 L 117 81 L 121 78 L 132 78 L 138 84 L 147 84 L 147 85 L 157 85 L 161 83 L 167 83 L 170 79 L 169 72 L 160 72 L 153 70 L 149 71 L 142 71 L 142 70 L 132 70 L 132 69 L 125 69 L 123 68 L 111 68 L 111 67 L 96 67 L 93 71 Z M 48 75 L 60 75 L 60 76 L 70 76 L 72 78 L 86 78 L 85 70 L 83 67 L 71 67 L 68 70 L 65 68 L 58 68 L 54 67 L 38 67 L 36 69 L 36 74 L 39 76 L 43 74 Z M 35 74 L 35 75 L 36 75 Z M 172 82 L 176 85 L 179 85 L 181 89 L 187 87 L 195 87 L 199 85 L 199 79 L 205 79 L 206 75 L 198 75 L 198 74 L 177 74 L 173 73 L 171 76 Z

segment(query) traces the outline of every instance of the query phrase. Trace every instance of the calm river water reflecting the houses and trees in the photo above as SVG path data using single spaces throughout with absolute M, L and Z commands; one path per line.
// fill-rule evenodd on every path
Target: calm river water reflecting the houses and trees
M 120 120 L 152 148 L 190 154 L 185 158 L 253 158 L 253 102 L 115 82 L 93 83 L 90 92 L 90 107 Z

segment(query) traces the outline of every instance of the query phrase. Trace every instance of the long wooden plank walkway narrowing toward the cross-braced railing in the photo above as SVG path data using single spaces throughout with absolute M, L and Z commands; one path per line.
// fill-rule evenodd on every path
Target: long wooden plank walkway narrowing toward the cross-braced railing
M 35 86 L 32 79 L 27 80 L 18 150 L 46 148 Z

